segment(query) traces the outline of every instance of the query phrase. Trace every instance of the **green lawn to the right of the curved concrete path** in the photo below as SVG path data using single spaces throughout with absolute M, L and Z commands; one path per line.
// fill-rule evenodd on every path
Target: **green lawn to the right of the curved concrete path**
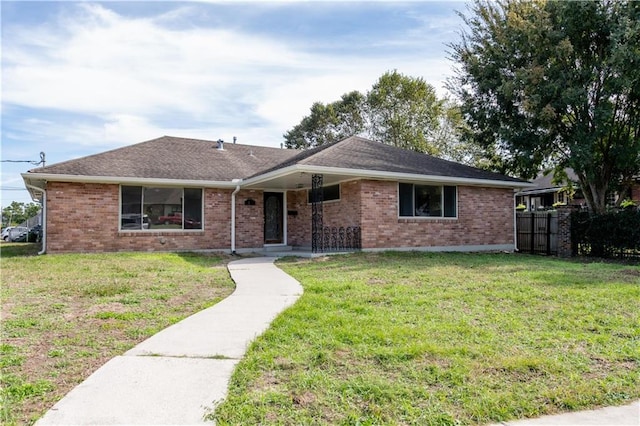
M 305 293 L 249 348 L 226 424 L 483 424 L 640 397 L 640 268 L 513 254 L 279 266 Z

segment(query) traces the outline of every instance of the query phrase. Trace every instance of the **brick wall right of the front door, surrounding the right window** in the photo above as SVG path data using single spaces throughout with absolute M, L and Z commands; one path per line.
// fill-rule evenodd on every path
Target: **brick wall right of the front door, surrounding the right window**
M 341 184 L 340 201 L 324 203 L 325 226 L 362 228 L 362 247 L 513 246 L 513 191 L 458 187 L 457 219 L 398 218 L 398 183 L 357 180 Z M 311 246 L 307 192 L 287 193 L 289 244 Z

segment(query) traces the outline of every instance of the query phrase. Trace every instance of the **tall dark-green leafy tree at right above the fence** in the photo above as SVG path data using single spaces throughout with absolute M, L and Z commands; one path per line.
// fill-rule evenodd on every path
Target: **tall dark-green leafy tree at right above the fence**
M 495 168 L 571 167 L 589 207 L 640 172 L 640 2 L 476 0 L 449 89 Z

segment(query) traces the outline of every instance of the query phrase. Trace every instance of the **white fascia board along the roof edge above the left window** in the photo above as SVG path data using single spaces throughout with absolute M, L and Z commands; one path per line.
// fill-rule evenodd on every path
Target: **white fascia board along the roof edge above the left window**
M 136 178 L 120 176 L 78 176 L 49 173 L 22 173 L 22 179 L 27 181 L 43 182 L 77 182 L 77 183 L 105 183 L 123 185 L 159 185 L 159 186 L 193 186 L 199 188 L 235 188 L 237 182 L 232 181 L 207 181 L 193 179 L 157 179 Z

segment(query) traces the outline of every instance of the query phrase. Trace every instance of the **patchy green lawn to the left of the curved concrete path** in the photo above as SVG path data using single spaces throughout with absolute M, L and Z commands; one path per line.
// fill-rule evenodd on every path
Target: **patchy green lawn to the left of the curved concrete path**
M 31 424 L 110 358 L 233 291 L 227 257 L 36 256 L 0 244 L 0 423 Z

